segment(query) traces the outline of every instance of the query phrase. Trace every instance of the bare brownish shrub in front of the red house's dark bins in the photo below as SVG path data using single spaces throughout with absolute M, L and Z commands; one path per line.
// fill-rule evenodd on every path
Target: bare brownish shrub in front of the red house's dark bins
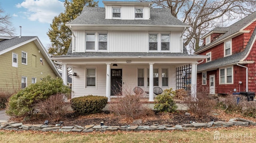
M 219 103 L 222 103 L 226 106 L 226 113 L 241 113 L 243 106 L 248 102 L 246 96 L 228 94 L 225 97 L 220 97 Z

